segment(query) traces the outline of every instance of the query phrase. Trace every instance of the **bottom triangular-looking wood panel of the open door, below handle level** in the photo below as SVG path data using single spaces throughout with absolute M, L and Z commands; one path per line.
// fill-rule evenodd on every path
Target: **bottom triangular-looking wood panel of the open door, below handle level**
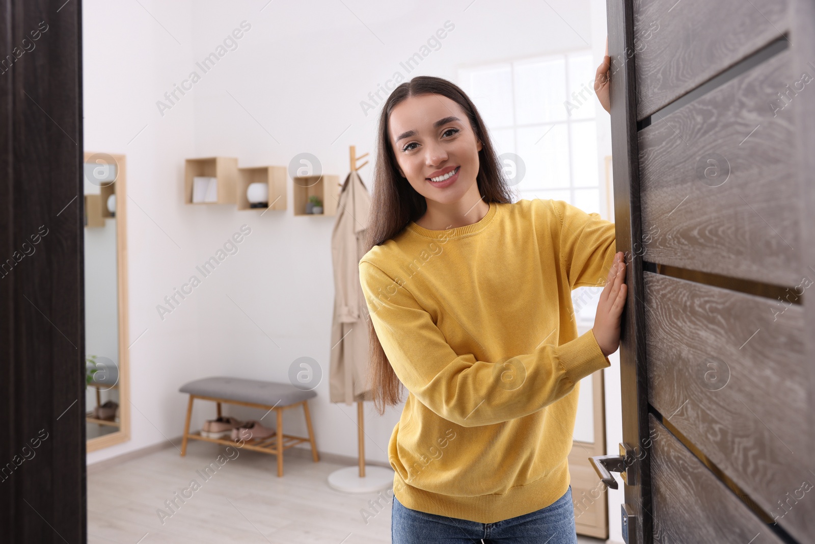
M 649 414 L 654 542 L 781 544 L 757 515 Z

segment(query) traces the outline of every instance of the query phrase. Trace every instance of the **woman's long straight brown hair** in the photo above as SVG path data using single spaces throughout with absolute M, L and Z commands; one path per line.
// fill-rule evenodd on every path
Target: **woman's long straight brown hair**
M 492 146 L 487 126 L 478 110 L 464 91 L 452 82 L 441 77 L 417 76 L 394 89 L 382 106 L 377 135 L 377 163 L 374 166 L 371 216 L 368 220 L 366 250 L 402 232 L 411 221 L 421 218 L 427 211 L 425 197 L 399 174 L 393 146 L 390 144 L 390 113 L 397 104 L 409 96 L 436 94 L 446 96 L 459 104 L 469 117 L 469 124 L 475 136 L 482 143 L 478 152 L 478 192 L 485 202 L 512 202 L 513 191 L 501 173 L 498 157 Z M 399 378 L 396 376 L 385 350 L 377 338 L 373 321 L 368 316 L 370 338 L 370 363 L 368 367 L 368 387 L 373 393 L 374 407 L 381 415 L 387 406 L 401 402 Z

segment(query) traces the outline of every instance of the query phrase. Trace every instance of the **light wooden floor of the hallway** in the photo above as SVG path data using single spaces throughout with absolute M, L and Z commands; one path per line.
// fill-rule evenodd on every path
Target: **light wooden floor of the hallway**
M 180 444 L 178 444 L 180 447 Z M 215 462 L 223 446 L 191 440 L 187 456 L 163 449 L 143 458 L 88 475 L 88 542 L 90 544 L 385 544 L 390 542 L 389 495 L 377 515 L 363 521 L 376 493 L 349 495 L 328 487 L 326 479 L 341 465 L 312 462 L 299 454 L 284 456 L 284 476 L 276 476 L 275 458 L 236 450 L 210 476 L 197 472 Z M 234 453 L 233 453 L 234 456 Z M 225 456 L 226 457 L 226 456 Z M 217 463 L 216 463 L 217 465 Z M 197 480 L 200 489 L 162 520 L 165 501 L 181 495 Z M 189 496 L 187 492 L 187 496 Z M 579 538 L 581 544 L 599 543 Z

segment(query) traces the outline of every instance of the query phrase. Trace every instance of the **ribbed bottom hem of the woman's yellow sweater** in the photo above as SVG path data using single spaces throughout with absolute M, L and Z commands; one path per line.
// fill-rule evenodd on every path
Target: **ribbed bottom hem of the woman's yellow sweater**
M 475 497 L 431 493 L 406 484 L 399 476 L 399 471 L 396 471 L 394 496 L 403 506 L 412 510 L 491 524 L 529 514 L 553 504 L 566 493 L 570 483 L 571 475 L 566 459 L 539 480 L 526 485 L 516 485 L 506 493 Z

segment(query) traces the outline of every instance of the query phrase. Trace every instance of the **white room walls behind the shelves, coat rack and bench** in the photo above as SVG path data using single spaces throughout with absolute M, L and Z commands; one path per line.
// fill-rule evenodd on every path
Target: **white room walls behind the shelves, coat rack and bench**
M 244 29 L 247 24 L 251 28 L 204 73 L 196 62 L 215 51 L 242 21 Z M 407 73 L 400 62 L 419 51 L 446 21 L 455 29 L 440 41 L 438 51 Z M 395 72 L 455 81 L 463 66 L 586 46 L 593 47 L 599 62 L 606 32 L 605 2 L 599 0 L 548 5 L 86 0 L 83 26 L 85 147 L 125 153 L 128 162 L 134 343 L 132 440 L 89 453 L 89 463 L 179 436 L 186 399 L 178 387 L 188 380 L 229 374 L 286 381 L 289 364 L 300 356 L 319 361 L 326 374 L 311 401 L 319 449 L 356 454 L 355 406 L 328 402 L 333 218 L 294 217 L 290 188 L 289 210 L 262 217 L 259 211 L 239 212 L 235 206 L 183 204 L 185 158 L 218 155 L 238 157 L 240 166 L 287 166 L 294 155 L 307 152 L 319 157 L 324 172 L 342 180 L 349 168 L 348 146 L 356 145 L 358 153 L 371 153 L 361 170 L 370 188 L 378 108 L 366 115 L 360 104 L 371 103 L 369 93 Z M 185 95 L 177 94 L 180 100 L 162 115 L 156 102 L 168 103 L 165 92 L 193 70 L 200 81 Z M 598 145 L 601 155 L 610 154 L 602 122 Z M 601 179 L 603 175 L 601 170 Z M 238 253 L 162 320 L 156 305 L 243 224 L 252 233 Z M 619 411 L 613 404 L 619 404 L 619 384 L 615 389 L 610 375 L 615 369 L 606 373 L 610 424 Z M 366 409 L 368 458 L 386 463 L 388 439 L 401 408 L 390 409 L 383 418 L 371 403 Z M 262 415 L 252 410 L 229 413 Z M 202 404 L 193 426 L 213 415 L 214 408 Z M 302 413 L 286 412 L 284 425 L 293 434 L 305 434 Z M 608 443 L 615 445 L 619 440 L 613 436 L 610 430 Z M 610 504 L 610 514 L 615 537 L 619 504 Z

